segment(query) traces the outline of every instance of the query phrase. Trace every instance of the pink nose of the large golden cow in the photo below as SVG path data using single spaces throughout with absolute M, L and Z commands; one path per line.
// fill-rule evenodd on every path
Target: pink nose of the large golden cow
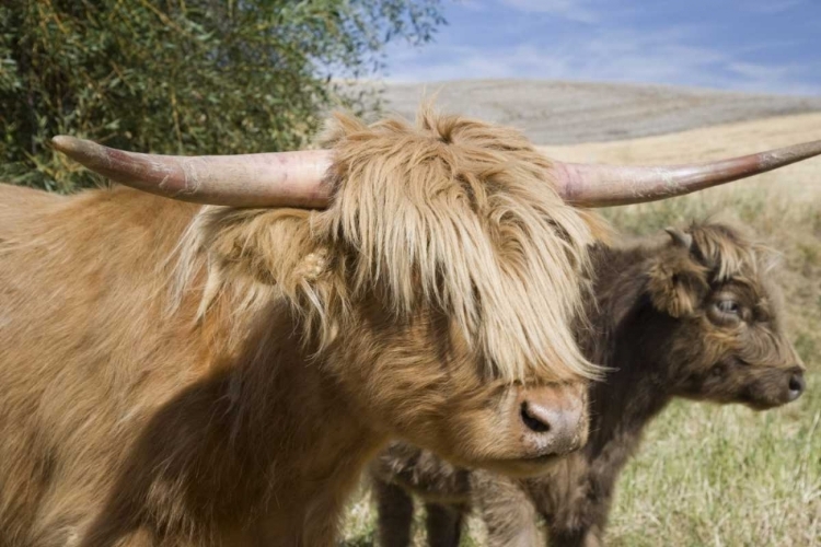
M 560 455 L 587 442 L 583 391 L 569 386 L 529 389 L 519 405 L 524 437 L 539 455 Z

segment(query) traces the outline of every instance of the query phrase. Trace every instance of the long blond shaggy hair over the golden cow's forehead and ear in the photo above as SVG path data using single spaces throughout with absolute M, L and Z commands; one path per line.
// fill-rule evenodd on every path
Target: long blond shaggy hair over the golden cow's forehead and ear
M 352 306 L 375 296 L 396 319 L 444 313 L 497 377 L 599 376 L 573 329 L 604 224 L 562 200 L 551 162 L 521 133 L 425 105 L 415 125 L 337 114 L 324 144 L 334 151 L 328 209 L 206 208 L 194 221 L 183 264 L 209 270 L 204 312 L 238 279 L 239 293 L 282 284 L 278 294 L 327 345 Z M 288 224 L 296 248 L 284 248 L 293 234 L 277 228 L 282 214 L 300 216 Z M 271 295 L 239 293 L 245 310 Z

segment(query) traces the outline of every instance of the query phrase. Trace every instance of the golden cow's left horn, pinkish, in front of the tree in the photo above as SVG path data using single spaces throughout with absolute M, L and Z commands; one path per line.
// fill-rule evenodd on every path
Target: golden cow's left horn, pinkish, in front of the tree
M 174 156 L 124 152 L 59 136 L 54 148 L 116 183 L 197 203 L 232 207 L 327 207 L 322 185 L 331 152 Z

